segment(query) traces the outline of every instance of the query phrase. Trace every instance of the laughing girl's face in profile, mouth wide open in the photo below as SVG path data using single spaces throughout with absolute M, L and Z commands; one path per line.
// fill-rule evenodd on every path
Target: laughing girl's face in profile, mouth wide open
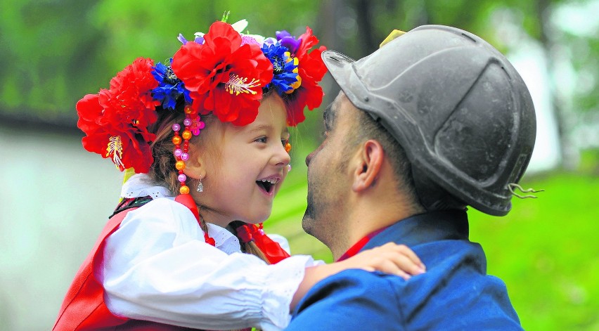
M 202 158 L 204 191 L 195 194 L 205 206 L 200 214 L 219 226 L 266 220 L 290 162 L 284 147 L 289 131 L 283 100 L 273 93 L 262 100 L 254 122 L 216 125 L 206 138 L 206 143 L 215 144 L 214 152 Z

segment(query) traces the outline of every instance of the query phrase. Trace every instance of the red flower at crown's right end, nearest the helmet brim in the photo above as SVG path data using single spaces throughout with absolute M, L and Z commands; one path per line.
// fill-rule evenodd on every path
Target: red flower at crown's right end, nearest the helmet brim
M 295 52 L 299 60 L 298 73 L 302 79 L 302 85 L 293 91 L 285 101 L 288 105 L 287 124 L 295 126 L 306 119 L 304 108 L 313 110 L 321 105 L 324 92 L 318 82 L 326 74 L 326 66 L 321 58 L 321 53 L 326 50 L 325 46 L 316 48 L 308 53 L 312 46 L 318 44 L 318 38 L 312 34 L 312 30 L 306 27 L 306 32 L 299 36 L 302 43 Z

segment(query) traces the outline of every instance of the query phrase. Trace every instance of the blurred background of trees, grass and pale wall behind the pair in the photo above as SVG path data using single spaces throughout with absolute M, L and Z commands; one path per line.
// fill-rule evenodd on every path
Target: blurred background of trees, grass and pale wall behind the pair
M 73 275 L 119 194 L 118 173 L 80 145 L 75 103 L 139 56 L 165 62 L 231 11 L 250 33 L 371 53 L 393 29 L 442 24 L 505 53 L 531 89 L 539 133 L 522 184 L 543 188 L 497 218 L 470 211 L 471 240 L 505 280 L 527 330 L 599 330 L 599 1 L 0 0 L 0 330 L 49 330 Z M 323 81 L 326 99 L 338 88 Z M 267 230 L 295 254 L 330 261 L 302 232 L 304 157 L 321 110 L 292 131 L 293 170 Z M 593 239 L 594 238 L 594 239 Z

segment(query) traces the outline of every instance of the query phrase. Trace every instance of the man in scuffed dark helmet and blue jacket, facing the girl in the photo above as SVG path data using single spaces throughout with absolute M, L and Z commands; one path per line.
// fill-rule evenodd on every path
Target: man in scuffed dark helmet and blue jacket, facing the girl
M 521 330 L 503 281 L 468 240 L 466 206 L 503 216 L 532 155 L 529 92 L 495 48 L 418 27 L 354 62 L 326 51 L 342 91 L 306 159 L 304 230 L 335 260 L 397 242 L 427 271 L 349 270 L 314 286 L 288 330 Z

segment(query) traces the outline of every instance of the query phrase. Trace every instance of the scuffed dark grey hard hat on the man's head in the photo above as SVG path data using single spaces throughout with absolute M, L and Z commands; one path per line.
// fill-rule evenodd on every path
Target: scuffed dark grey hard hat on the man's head
M 394 136 L 425 181 L 487 214 L 508 214 L 508 184 L 528 166 L 536 119 L 522 78 L 493 46 L 454 27 L 425 25 L 358 61 L 334 51 L 322 57 L 349 100 Z

